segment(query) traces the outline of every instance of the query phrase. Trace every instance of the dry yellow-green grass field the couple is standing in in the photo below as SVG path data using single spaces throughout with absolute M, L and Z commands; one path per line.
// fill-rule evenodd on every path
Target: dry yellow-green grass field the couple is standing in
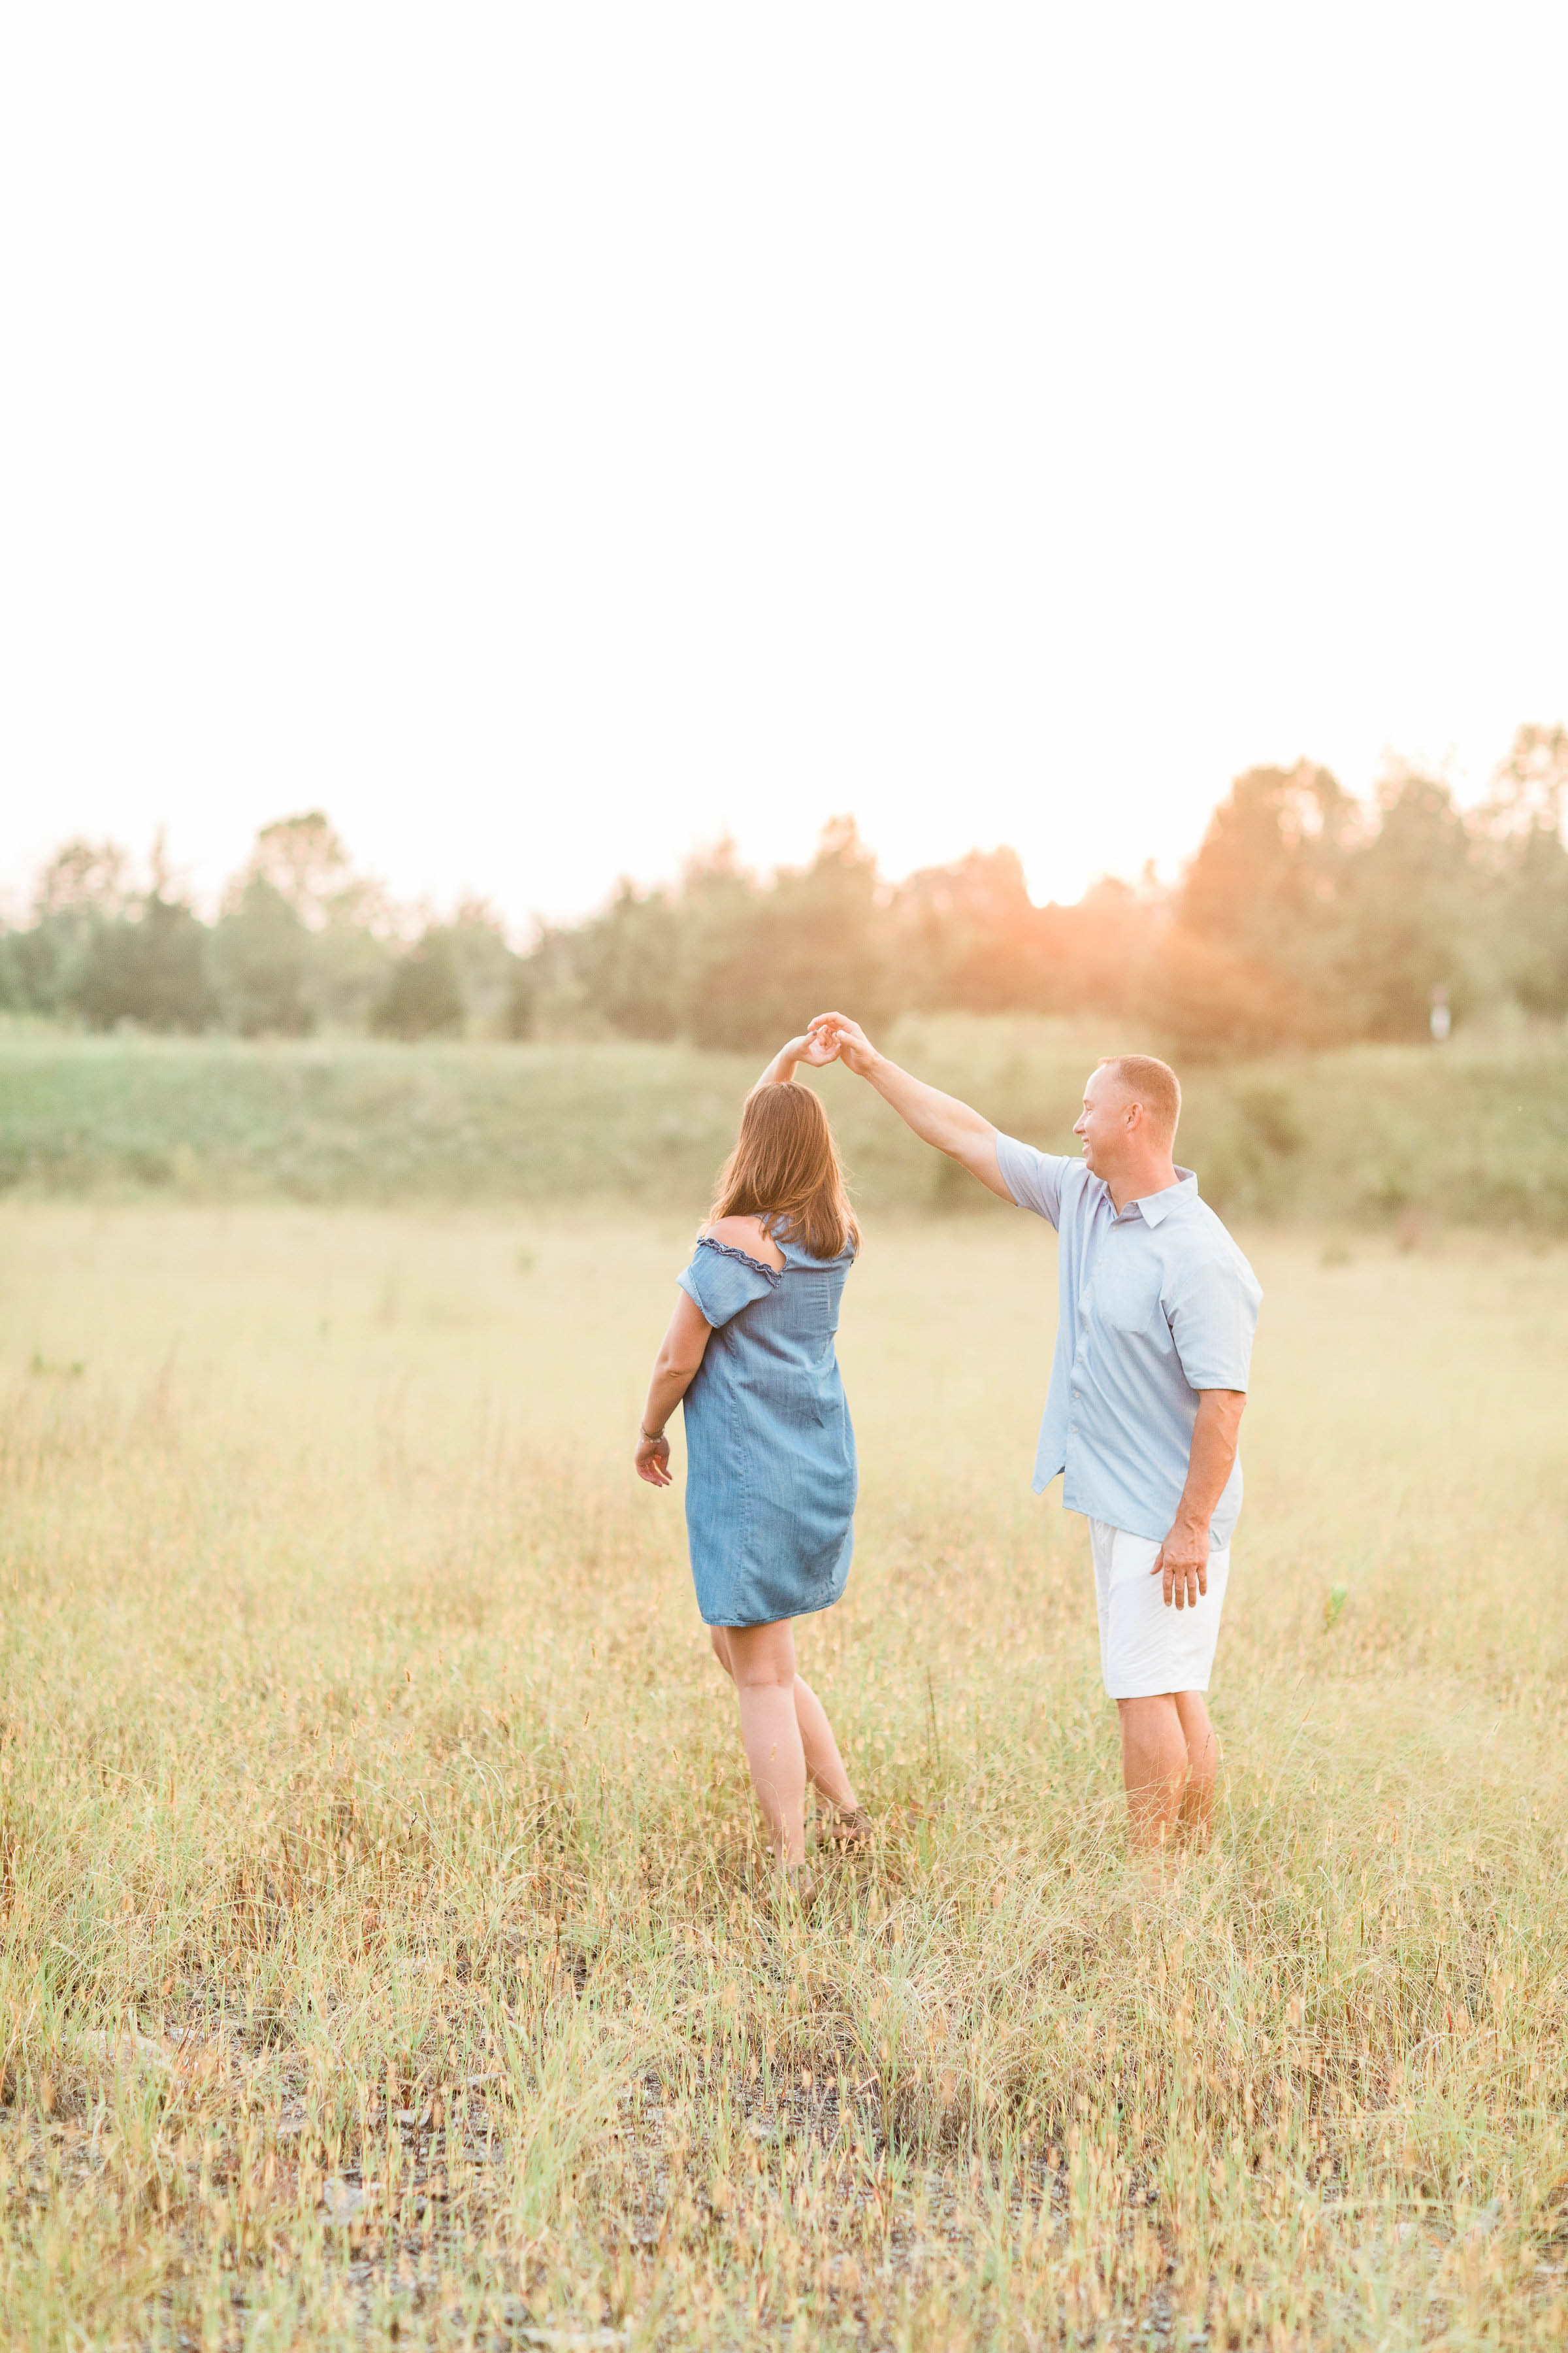
M 1051 1247 L 872 1219 L 882 1819 L 757 1880 L 628 1435 L 686 1219 L 0 1212 L 7 2346 L 1547 2346 L 1568 1254 L 1244 1235 L 1215 1849 L 1121 1852 Z

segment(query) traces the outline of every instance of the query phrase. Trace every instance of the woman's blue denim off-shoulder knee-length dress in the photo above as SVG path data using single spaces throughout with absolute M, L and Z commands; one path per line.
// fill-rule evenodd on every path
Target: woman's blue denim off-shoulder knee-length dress
M 853 1249 L 783 1268 L 698 1242 L 679 1287 L 712 1325 L 686 1391 L 686 1537 L 705 1626 L 837 1602 L 856 1546 L 856 1433 L 832 1348 Z

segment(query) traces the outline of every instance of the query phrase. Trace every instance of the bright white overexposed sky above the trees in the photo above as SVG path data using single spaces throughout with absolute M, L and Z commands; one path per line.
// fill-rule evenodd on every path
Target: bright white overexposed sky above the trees
M 0 887 L 327 807 L 515 920 L 851 809 L 1173 871 L 1568 718 L 1568 12 L 49 0 Z

